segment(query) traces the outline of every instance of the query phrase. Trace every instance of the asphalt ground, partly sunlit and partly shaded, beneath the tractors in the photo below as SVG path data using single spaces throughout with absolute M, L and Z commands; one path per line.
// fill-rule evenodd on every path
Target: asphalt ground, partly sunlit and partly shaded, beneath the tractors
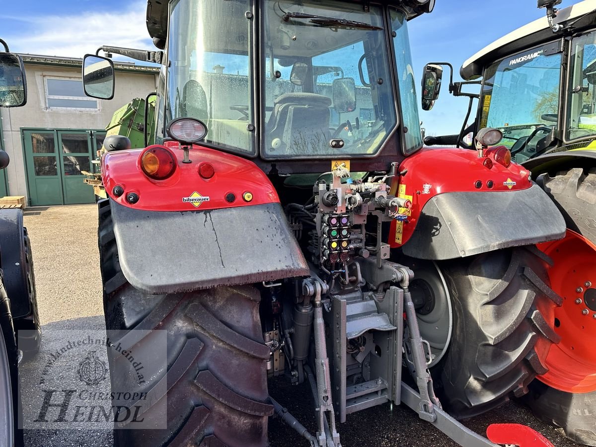
M 65 334 L 92 331 L 101 335 L 105 334 L 105 325 L 95 205 L 30 208 L 26 211 L 25 224 L 32 242 L 39 316 L 44 331 L 41 352 L 20 368 L 23 420 L 29 424 L 39 418 L 41 411 L 39 395 L 44 386 L 40 384 L 40 377 L 51 361 L 52 353 L 66 343 L 68 335 Z M 76 370 L 76 362 L 68 359 L 56 362 L 51 367 L 53 385 L 72 387 Z M 106 382 L 101 386 L 107 386 Z M 315 432 L 312 395 L 306 384 L 290 386 L 283 378 L 275 378 L 269 388 L 281 405 L 287 407 L 311 433 Z M 567 440 L 561 429 L 536 420 L 521 402 L 508 402 L 464 422 L 477 433 L 485 433 L 486 427 L 492 423 L 526 424 L 544 434 L 556 447 L 578 446 Z M 75 425 L 64 423 L 57 424 L 55 429 L 25 430 L 26 445 L 111 445 L 109 424 L 95 424 L 93 430 L 81 429 L 85 424 L 73 428 Z M 404 405 L 386 404 L 350 414 L 338 430 L 344 447 L 457 445 Z M 306 446 L 302 438 L 275 418 L 269 423 L 269 439 L 271 447 Z

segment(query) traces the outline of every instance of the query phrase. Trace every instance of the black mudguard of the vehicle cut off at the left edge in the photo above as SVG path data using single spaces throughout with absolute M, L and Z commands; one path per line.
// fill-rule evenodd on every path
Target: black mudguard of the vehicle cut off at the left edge
M 4 271 L 4 286 L 10 298 L 13 319 L 31 313 L 27 280 L 23 210 L 0 210 L 0 267 Z

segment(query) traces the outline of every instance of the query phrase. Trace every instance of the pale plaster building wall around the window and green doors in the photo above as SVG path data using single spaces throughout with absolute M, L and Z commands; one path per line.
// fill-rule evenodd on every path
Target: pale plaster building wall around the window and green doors
M 26 63 L 27 104 L 0 108 L 4 150 L 10 156 L 5 173 L 9 195 L 27 197 L 27 180 L 21 128 L 104 129 L 113 113 L 133 98 L 145 98 L 156 91 L 157 74 L 116 71 L 114 99 L 99 100 L 99 110 L 50 110 L 47 107 L 45 77 L 81 79 L 80 67 L 52 67 Z M 27 202 L 26 202 L 27 203 Z

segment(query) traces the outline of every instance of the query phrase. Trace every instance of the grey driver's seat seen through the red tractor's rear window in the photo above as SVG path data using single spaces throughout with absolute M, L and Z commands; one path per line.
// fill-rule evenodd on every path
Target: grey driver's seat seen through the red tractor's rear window
M 286 93 L 274 101 L 267 123 L 269 151 L 311 154 L 325 151 L 331 138 L 330 98 L 314 93 Z

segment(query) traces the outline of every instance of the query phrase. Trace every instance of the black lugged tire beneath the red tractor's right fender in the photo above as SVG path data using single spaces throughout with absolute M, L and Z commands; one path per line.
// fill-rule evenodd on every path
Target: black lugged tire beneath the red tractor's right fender
M 548 309 L 560 297 L 548 285 L 545 265 L 533 247 L 443 264 L 454 328 L 433 376 L 439 378 L 443 406 L 454 417 L 470 418 L 522 396 L 530 381 L 546 372 L 535 345 L 541 338 L 558 341 Z

